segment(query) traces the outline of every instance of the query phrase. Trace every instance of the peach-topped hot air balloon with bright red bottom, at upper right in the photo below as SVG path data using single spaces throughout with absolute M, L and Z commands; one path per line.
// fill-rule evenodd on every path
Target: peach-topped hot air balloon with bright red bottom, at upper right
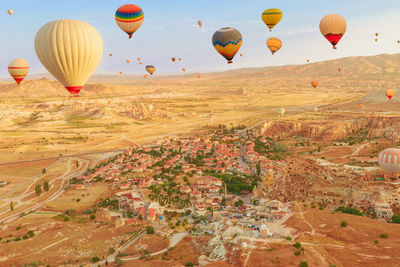
M 319 23 L 322 35 L 333 45 L 333 49 L 345 34 L 346 27 L 346 20 L 337 14 L 326 15 Z

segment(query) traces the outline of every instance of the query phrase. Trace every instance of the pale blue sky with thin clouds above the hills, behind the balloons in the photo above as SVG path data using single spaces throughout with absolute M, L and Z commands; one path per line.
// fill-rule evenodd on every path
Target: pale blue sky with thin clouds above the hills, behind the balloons
M 132 39 L 114 20 L 116 9 L 124 4 L 136 4 L 144 12 L 144 23 Z M 57 19 L 83 20 L 99 31 L 104 55 L 96 74 L 123 71 L 141 75 L 145 65 L 155 65 L 159 75 L 182 73 L 183 67 L 187 73 L 214 72 L 400 53 L 399 0 L 0 0 L 0 7 L 0 77 L 8 76 L 7 65 L 16 57 L 28 60 L 30 74 L 47 72 L 36 57 L 34 39 L 41 26 Z M 12 16 L 7 14 L 9 8 L 14 10 Z M 283 12 L 272 32 L 261 20 L 268 8 Z M 319 31 L 319 21 L 331 13 L 347 21 L 347 32 L 337 50 Z M 198 20 L 204 21 L 202 29 Z M 242 33 L 238 54 L 244 54 L 229 65 L 211 44 L 214 32 L 227 26 Z M 378 43 L 374 42 L 376 32 L 380 34 Z M 274 56 L 266 46 L 270 37 L 283 42 Z M 174 64 L 171 57 L 183 61 Z

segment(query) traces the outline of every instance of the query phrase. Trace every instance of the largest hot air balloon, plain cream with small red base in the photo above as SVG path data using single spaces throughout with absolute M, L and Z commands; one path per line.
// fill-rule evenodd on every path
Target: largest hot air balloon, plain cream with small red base
M 39 29 L 35 50 L 43 66 L 77 95 L 101 61 L 103 40 L 84 21 L 56 20 Z

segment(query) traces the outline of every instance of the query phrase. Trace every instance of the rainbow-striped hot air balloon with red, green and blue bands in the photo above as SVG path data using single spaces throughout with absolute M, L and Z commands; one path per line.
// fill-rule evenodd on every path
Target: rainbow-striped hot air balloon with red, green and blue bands
M 142 26 L 143 19 L 143 10 L 137 5 L 123 5 L 115 12 L 115 22 L 129 35 L 129 39 Z

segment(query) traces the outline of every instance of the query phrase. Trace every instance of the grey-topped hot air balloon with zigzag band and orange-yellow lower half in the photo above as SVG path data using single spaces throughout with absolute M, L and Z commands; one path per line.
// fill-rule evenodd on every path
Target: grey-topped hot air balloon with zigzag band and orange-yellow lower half
M 215 50 L 230 64 L 242 46 L 242 34 L 231 27 L 222 28 L 214 33 L 212 43 Z

